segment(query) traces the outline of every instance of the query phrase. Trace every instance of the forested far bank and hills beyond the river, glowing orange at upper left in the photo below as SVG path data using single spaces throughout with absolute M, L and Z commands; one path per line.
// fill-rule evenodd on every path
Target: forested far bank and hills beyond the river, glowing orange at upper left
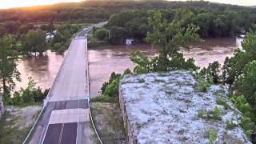
M 126 38 L 134 38 L 135 42 L 145 42 L 147 31 L 152 30 L 147 22 L 148 11 L 160 10 L 163 17 L 171 22 L 176 10 L 182 9 L 192 13 L 190 20 L 184 26 L 191 23 L 199 26 L 198 34 L 201 38 L 231 37 L 246 34 L 250 29 L 256 29 L 256 10 L 252 7 L 203 1 L 97 0 L 0 10 L 0 38 L 5 34 L 13 34 L 20 40 L 22 35 L 30 30 L 43 30 L 47 33 L 58 30 L 58 26 L 66 24 L 79 25 L 108 21 L 108 25 L 98 30 L 100 34 L 97 34 L 99 40 L 105 41 L 102 42 L 104 45 L 106 43 L 123 44 Z M 77 30 L 76 28 L 76 30 L 70 30 L 69 33 L 64 33 L 74 34 Z M 62 38 L 66 40 L 70 38 L 70 35 L 62 34 Z M 50 42 L 51 50 L 59 52 L 65 50 L 63 47 L 61 50 L 56 48 L 59 41 L 61 40 L 54 40 L 55 43 Z M 90 46 L 98 45 L 90 44 Z

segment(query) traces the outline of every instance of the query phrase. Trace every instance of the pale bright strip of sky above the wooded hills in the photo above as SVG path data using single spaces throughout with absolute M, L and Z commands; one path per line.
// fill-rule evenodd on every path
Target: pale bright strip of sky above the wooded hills
M 22 6 L 49 5 L 58 2 L 82 2 L 83 0 L 0 0 L 0 9 Z M 174 0 L 170 0 L 174 1 Z M 186 0 L 180 0 L 186 1 Z M 256 0 L 208 0 L 210 2 L 228 3 L 240 6 L 256 6 Z

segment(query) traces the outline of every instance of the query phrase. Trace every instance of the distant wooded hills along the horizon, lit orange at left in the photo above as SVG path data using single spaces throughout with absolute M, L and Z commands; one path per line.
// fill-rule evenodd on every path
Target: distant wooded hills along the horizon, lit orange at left
M 206 10 L 219 12 L 229 9 L 249 10 L 249 14 L 255 14 L 253 8 L 203 1 L 91 0 L 52 6 L 34 6 L 0 10 L 0 22 L 102 22 L 108 20 L 110 15 L 121 12 L 122 10 L 174 10 L 177 8 L 205 8 Z

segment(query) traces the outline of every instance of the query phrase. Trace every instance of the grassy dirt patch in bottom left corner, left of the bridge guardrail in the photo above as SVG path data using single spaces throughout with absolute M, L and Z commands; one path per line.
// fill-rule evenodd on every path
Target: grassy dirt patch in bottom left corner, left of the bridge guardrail
M 41 106 L 6 106 L 0 121 L 0 144 L 20 144 L 33 125 Z

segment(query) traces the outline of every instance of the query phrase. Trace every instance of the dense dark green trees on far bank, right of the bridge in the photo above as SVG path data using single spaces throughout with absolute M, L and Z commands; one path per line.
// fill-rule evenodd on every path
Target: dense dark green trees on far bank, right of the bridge
M 182 10 L 182 9 L 177 9 Z M 177 10 L 160 10 L 167 22 L 174 20 Z M 186 9 L 188 10 L 188 9 Z M 256 14 L 236 10 L 191 9 L 190 18 L 182 24 L 199 26 L 201 38 L 222 38 L 245 34 L 250 29 L 256 30 Z M 148 10 L 128 10 L 110 16 L 106 28 L 110 31 L 111 44 L 123 44 L 126 38 L 134 38 L 136 42 L 146 42 L 146 34 L 152 31 L 149 25 Z M 184 15 L 181 15 L 184 16 Z M 108 37 L 105 34 L 105 37 Z

